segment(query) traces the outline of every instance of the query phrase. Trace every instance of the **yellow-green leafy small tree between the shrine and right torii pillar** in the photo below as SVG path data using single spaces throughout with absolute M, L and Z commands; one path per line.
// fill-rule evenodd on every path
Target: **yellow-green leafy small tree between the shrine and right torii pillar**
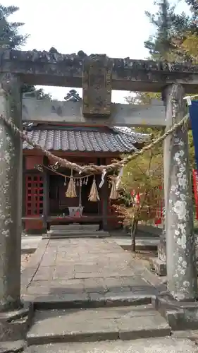
M 140 220 L 153 222 L 156 207 L 161 201 L 162 167 L 161 153 L 156 154 L 152 150 L 125 166 L 120 197 L 123 205 L 117 207 L 124 217 L 124 225 L 132 227 Z M 139 202 L 137 194 L 140 195 Z

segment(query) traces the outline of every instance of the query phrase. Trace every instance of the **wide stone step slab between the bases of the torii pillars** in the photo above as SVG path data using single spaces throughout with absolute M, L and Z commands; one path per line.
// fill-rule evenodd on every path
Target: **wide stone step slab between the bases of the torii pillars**
M 54 342 L 134 340 L 171 335 L 166 320 L 151 306 L 36 311 L 27 345 Z

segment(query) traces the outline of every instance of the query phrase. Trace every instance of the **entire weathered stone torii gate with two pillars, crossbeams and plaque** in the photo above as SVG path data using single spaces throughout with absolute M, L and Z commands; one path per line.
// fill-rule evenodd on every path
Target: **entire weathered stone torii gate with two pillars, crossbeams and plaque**
M 107 126 L 166 126 L 186 114 L 183 97 L 197 92 L 198 66 L 111 59 L 83 52 L 0 50 L 1 114 L 18 128 L 22 121 L 63 121 Z M 25 97 L 25 84 L 82 88 L 82 103 L 42 102 Z M 112 104 L 112 90 L 162 92 L 163 102 L 149 106 Z M 59 104 L 57 106 L 57 104 Z M 74 110 L 75 109 L 75 110 Z M 23 119 L 22 119 L 23 112 Z M 22 217 L 22 141 L 0 119 L 0 320 L 16 318 L 20 302 L 20 243 Z M 159 257 L 167 258 L 168 292 L 156 299 L 172 327 L 198 328 L 197 268 L 192 215 L 192 188 L 188 166 L 187 130 L 179 128 L 164 143 L 166 241 L 161 237 Z M 166 244 L 165 244 L 166 243 Z M 193 309 L 193 311 L 192 311 Z M 18 314 L 19 315 L 19 314 Z M 18 316 L 17 316 L 18 318 Z M 183 323 L 183 325 L 181 325 Z M 1 325 L 2 326 L 2 325 Z M 0 333 L 6 340 L 6 333 Z

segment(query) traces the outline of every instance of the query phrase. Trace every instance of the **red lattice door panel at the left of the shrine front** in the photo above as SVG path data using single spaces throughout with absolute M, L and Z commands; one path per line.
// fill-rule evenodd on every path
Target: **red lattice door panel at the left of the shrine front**
M 35 217 L 43 214 L 43 177 L 26 175 L 26 216 Z

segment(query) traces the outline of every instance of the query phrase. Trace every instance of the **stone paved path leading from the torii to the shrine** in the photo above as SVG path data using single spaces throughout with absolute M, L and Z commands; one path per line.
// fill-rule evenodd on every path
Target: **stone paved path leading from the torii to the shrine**
M 22 273 L 27 300 L 155 294 L 143 269 L 112 239 L 42 240 Z

